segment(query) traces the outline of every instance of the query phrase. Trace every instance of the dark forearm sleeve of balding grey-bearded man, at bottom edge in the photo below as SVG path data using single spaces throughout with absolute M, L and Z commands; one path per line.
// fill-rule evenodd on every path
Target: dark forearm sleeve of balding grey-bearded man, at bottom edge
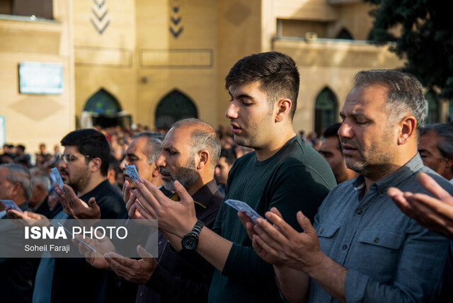
M 159 292 L 164 302 L 207 302 L 213 273 L 214 270 L 210 276 L 204 275 L 202 280 L 194 282 L 172 275 L 158 265 L 149 278 L 147 287 Z

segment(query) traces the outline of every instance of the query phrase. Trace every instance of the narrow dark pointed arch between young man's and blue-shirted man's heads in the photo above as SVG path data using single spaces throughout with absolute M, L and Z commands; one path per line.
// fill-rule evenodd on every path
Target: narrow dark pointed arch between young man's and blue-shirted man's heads
M 325 87 L 316 96 L 314 103 L 314 131 L 321 137 L 329 125 L 336 122 L 338 115 L 338 100 L 335 93 Z

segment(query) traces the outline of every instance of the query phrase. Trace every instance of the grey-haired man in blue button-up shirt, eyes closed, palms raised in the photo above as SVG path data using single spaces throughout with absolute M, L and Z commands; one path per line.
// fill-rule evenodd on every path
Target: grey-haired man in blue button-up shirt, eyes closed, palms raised
M 346 165 L 359 176 L 333 188 L 314 226 L 298 212 L 303 232 L 289 227 L 277 209 L 266 214 L 270 222 L 247 224 L 290 302 L 437 302 L 448 240 L 399 212 L 386 194 L 396 187 L 430 195 L 418 173 L 453 193 L 417 152 L 426 111 L 414 76 L 359 72 L 338 130 Z

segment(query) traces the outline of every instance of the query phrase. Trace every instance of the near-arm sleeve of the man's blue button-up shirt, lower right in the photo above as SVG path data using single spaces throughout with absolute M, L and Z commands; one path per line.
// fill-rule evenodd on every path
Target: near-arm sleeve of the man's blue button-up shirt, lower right
M 392 285 L 349 269 L 346 302 L 437 302 L 447 261 L 448 240 L 411 219 Z

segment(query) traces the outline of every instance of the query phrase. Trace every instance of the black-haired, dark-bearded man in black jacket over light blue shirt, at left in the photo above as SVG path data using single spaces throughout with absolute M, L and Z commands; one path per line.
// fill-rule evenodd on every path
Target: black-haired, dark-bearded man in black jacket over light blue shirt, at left
M 101 219 L 125 217 L 125 203 L 107 179 L 110 144 L 105 136 L 93 129 L 75 130 L 61 144 L 64 153 L 58 168 L 65 184 L 64 195 L 75 191 L 86 202 L 86 209 L 100 213 Z M 72 212 L 67 212 L 55 210 L 52 219 L 71 218 Z M 33 302 L 111 302 L 118 297 L 108 288 L 113 285 L 106 282 L 108 278 L 104 270 L 92 268 L 83 258 L 42 258 Z

